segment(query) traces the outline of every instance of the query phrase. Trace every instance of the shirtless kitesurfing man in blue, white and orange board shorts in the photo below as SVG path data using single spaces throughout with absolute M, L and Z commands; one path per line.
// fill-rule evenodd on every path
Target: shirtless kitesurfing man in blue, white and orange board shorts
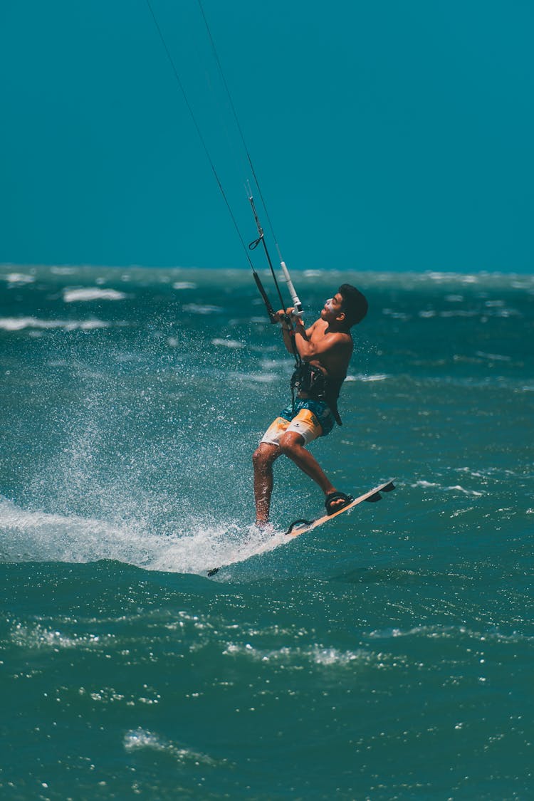
M 343 509 L 352 500 L 336 491 L 319 463 L 306 450 L 306 445 L 317 437 L 326 437 L 334 427 L 341 425 L 337 398 L 351 360 L 354 344 L 351 327 L 367 314 L 367 300 L 351 284 L 339 287 L 335 296 L 324 304 L 319 320 L 304 328 L 299 317 L 295 329 L 287 323 L 292 308 L 278 312 L 282 324 L 283 342 L 295 354 L 299 366 L 291 378 L 291 388 L 297 392 L 293 403 L 283 409 L 280 417 L 271 423 L 254 456 L 254 494 L 256 525 L 269 520 L 273 488 L 272 465 L 282 454 L 295 462 L 311 477 L 326 496 L 328 514 Z M 295 346 L 295 347 L 294 347 Z

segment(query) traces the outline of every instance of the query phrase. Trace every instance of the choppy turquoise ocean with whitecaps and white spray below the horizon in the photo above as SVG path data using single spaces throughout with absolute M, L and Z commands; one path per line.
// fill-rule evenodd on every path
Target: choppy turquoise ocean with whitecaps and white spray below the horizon
M 250 272 L 0 268 L 2 799 L 534 797 L 534 276 L 293 279 L 367 295 L 311 449 L 396 489 L 288 542 Z

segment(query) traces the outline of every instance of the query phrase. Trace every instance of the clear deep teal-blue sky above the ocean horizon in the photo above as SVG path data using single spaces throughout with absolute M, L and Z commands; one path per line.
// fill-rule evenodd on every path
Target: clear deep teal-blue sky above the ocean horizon
M 249 268 L 199 2 L 151 5 L 245 247 L 147 0 L 3 0 L 0 263 Z M 290 268 L 534 272 L 530 0 L 203 10 Z

